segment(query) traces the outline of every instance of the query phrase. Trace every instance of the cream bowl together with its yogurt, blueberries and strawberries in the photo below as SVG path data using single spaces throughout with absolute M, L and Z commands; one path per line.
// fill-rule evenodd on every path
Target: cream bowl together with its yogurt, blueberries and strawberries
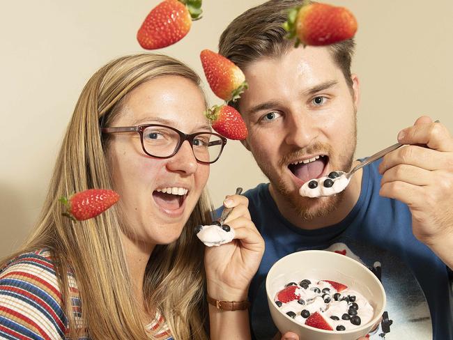
M 356 340 L 379 322 L 385 291 L 353 258 L 323 250 L 289 254 L 266 278 L 270 314 L 279 331 L 300 340 Z

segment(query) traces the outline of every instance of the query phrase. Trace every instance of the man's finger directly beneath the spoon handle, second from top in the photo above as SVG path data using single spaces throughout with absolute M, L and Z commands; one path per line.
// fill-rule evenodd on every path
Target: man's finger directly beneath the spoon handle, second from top
M 399 164 L 408 164 L 426 170 L 453 170 L 453 153 L 438 152 L 423 146 L 403 146 L 383 157 L 379 164 L 379 172 L 384 173 Z

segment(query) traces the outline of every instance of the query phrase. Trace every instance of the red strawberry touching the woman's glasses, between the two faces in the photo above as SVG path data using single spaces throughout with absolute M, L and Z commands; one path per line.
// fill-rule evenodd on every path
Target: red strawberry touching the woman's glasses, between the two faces
M 214 105 L 206 117 L 215 131 L 229 139 L 242 141 L 249 134 L 240 113 L 229 105 Z

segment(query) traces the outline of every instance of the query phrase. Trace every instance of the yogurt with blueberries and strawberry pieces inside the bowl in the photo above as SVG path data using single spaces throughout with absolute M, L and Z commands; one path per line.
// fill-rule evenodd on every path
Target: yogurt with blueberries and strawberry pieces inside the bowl
M 275 295 L 274 301 L 282 313 L 296 322 L 323 330 L 353 330 L 369 323 L 374 316 L 373 307 L 363 295 L 335 281 L 289 282 Z M 311 318 L 318 320 L 314 323 Z

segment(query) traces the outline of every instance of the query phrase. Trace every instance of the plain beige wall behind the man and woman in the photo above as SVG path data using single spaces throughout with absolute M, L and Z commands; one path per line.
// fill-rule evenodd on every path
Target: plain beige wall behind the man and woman
M 201 74 L 201 49 L 217 51 L 217 38 L 229 21 L 261 2 L 205 0 L 204 18 L 181 42 L 160 52 L 183 59 Z M 0 256 L 20 245 L 33 226 L 86 80 L 110 59 L 141 51 L 135 34 L 157 3 L 2 1 Z M 353 64 L 362 86 L 357 156 L 393 144 L 399 129 L 420 114 L 440 119 L 453 131 L 453 1 L 330 3 L 348 6 L 359 22 Z M 219 102 L 206 89 L 211 103 Z M 230 141 L 208 185 L 218 206 L 237 186 L 254 187 L 263 180 L 245 148 Z

